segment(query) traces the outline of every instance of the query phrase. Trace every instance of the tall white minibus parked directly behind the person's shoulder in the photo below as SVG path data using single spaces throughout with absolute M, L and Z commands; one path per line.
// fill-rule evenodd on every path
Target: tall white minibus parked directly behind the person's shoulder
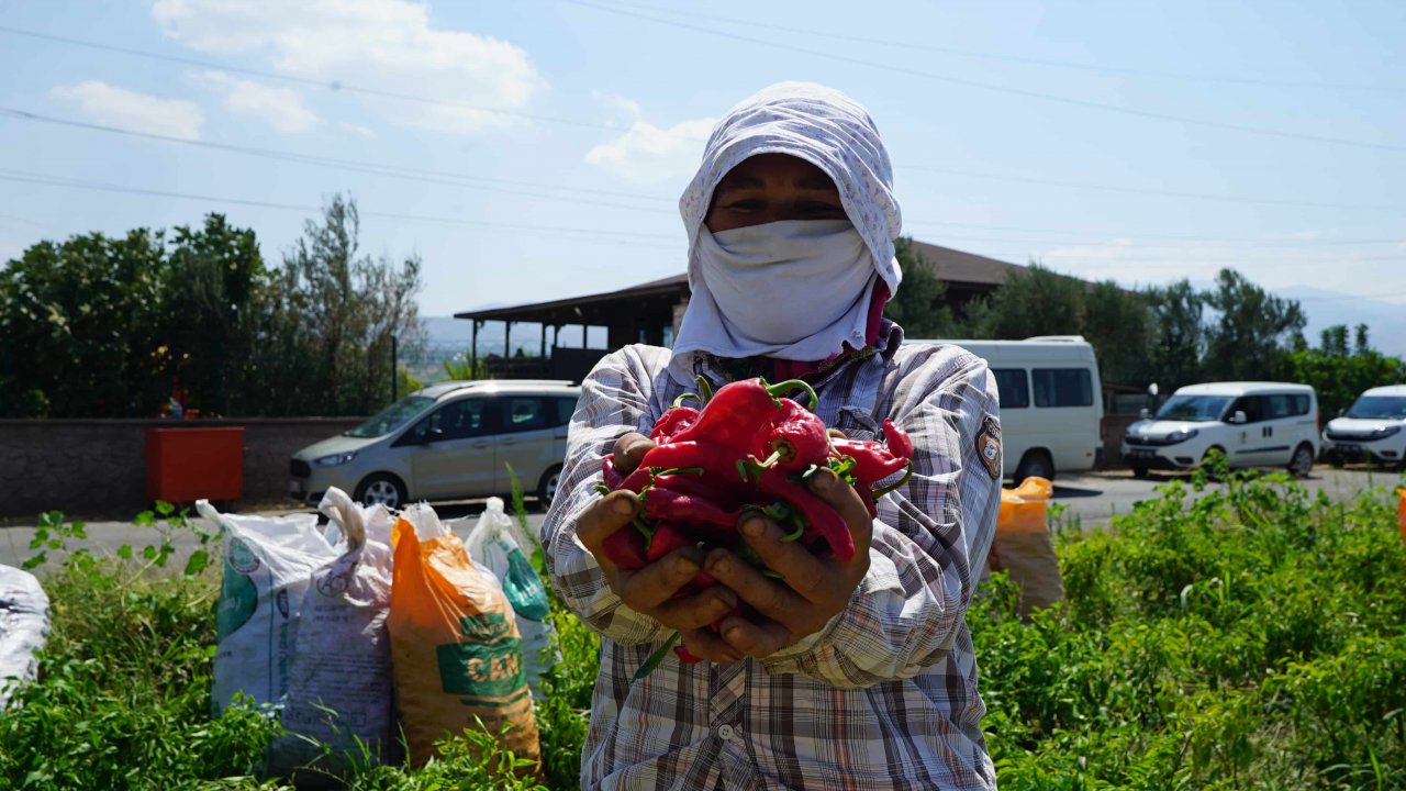
M 1104 391 L 1084 338 L 911 342 L 962 346 L 991 367 L 1001 397 L 1002 476 L 1054 480 L 1102 460 Z

